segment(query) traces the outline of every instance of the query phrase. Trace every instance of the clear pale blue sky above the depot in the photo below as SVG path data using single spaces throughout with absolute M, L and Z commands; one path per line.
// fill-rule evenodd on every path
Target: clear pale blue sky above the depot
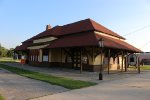
M 150 0 L 0 0 L 0 43 L 15 48 L 48 24 L 87 18 L 150 52 Z

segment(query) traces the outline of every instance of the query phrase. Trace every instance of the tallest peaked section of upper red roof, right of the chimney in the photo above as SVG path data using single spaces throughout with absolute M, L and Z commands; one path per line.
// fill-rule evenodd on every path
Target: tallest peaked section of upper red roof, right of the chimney
M 118 35 L 117 33 L 107 29 L 106 27 L 98 24 L 97 22 L 93 21 L 92 19 L 85 19 L 81 20 L 75 23 L 67 24 L 64 26 L 61 26 L 61 30 L 58 31 L 57 35 L 68 35 L 73 33 L 80 33 L 80 32 L 86 32 L 86 31 L 99 31 L 103 32 L 121 39 L 125 39 L 124 37 Z

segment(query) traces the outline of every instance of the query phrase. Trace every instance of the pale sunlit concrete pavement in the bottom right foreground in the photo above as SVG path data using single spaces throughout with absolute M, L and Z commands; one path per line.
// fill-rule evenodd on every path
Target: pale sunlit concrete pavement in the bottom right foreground
M 32 100 L 150 100 L 150 71 Z

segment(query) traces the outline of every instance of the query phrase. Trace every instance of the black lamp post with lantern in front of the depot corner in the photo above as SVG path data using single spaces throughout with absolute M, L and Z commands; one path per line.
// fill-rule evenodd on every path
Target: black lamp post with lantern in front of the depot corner
M 99 39 L 99 47 L 101 49 L 101 64 L 100 64 L 100 70 L 99 70 L 99 80 L 103 80 L 103 74 L 102 74 L 102 68 L 103 68 L 103 60 L 102 60 L 102 54 L 103 54 L 103 47 L 104 47 L 104 43 L 103 43 L 103 39 Z

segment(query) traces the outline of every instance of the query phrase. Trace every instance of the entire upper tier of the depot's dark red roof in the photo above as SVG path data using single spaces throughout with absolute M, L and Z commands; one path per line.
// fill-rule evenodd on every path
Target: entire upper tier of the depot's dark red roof
M 91 19 L 85 19 L 78 22 L 74 22 L 71 24 L 63 25 L 63 26 L 55 26 L 52 29 L 46 30 L 44 32 L 39 33 L 36 36 L 33 36 L 32 38 L 24 41 L 33 41 L 37 38 L 42 38 L 46 36 L 62 36 L 62 35 L 69 35 L 73 33 L 80 33 L 80 32 L 88 32 L 88 31 L 94 31 L 97 30 L 99 32 L 103 32 L 121 39 L 125 39 L 122 36 L 118 35 L 117 33 L 107 29 L 106 27 L 96 23 L 95 21 Z

